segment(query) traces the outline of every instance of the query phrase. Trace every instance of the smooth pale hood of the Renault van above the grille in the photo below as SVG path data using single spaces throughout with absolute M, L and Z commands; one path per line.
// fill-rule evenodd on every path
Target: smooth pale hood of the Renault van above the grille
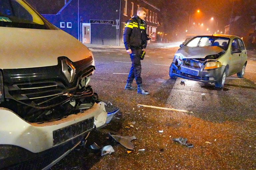
M 0 27 L 0 37 L 0 69 L 52 66 L 60 56 L 75 62 L 92 55 L 62 30 Z

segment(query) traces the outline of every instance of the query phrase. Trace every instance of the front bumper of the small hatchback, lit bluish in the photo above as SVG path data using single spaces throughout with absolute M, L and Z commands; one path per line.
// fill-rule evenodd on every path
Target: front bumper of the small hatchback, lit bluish
M 214 83 L 220 80 L 224 70 L 224 65 L 219 68 L 204 70 L 203 67 L 193 67 L 184 63 L 178 66 L 175 63 L 172 63 L 170 66 L 169 75 L 188 80 Z

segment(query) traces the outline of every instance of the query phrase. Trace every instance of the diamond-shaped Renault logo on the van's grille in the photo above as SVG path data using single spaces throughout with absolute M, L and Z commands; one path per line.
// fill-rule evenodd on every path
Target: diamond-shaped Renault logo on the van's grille
M 67 59 L 61 60 L 62 72 L 68 79 L 69 83 L 74 81 L 76 69 Z

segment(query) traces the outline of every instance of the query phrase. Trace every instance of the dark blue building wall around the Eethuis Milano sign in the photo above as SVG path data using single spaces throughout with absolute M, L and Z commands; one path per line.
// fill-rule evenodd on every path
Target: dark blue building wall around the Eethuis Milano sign
M 90 20 L 111 20 L 116 24 L 116 19 L 119 19 L 119 9 L 120 0 L 80 0 L 79 4 L 78 0 L 71 0 L 59 14 L 43 15 L 43 17 L 61 30 L 80 39 L 80 35 L 83 34 L 80 29 L 82 23 L 90 23 Z M 81 25 L 80 17 L 83 18 Z M 65 28 L 61 28 L 61 22 L 65 23 Z M 72 28 L 67 28 L 68 22 L 71 23 Z M 116 27 L 113 27 L 112 24 L 91 23 L 90 26 L 91 43 L 117 45 Z

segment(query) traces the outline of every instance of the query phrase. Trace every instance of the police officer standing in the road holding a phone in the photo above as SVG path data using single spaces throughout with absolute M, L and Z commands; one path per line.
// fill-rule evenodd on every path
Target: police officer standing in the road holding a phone
M 126 52 L 130 54 L 132 60 L 132 66 L 126 80 L 125 90 L 136 90 L 131 86 L 133 79 L 135 78 L 137 83 L 137 93 L 142 95 L 149 94 L 148 91 L 143 89 L 141 74 L 141 55 L 142 49 L 146 48 L 147 40 L 152 38 L 152 34 L 147 35 L 147 25 L 145 23 L 146 9 L 139 8 L 137 15 L 128 20 L 124 29 L 124 45 Z M 145 52 L 144 52 L 145 54 Z

